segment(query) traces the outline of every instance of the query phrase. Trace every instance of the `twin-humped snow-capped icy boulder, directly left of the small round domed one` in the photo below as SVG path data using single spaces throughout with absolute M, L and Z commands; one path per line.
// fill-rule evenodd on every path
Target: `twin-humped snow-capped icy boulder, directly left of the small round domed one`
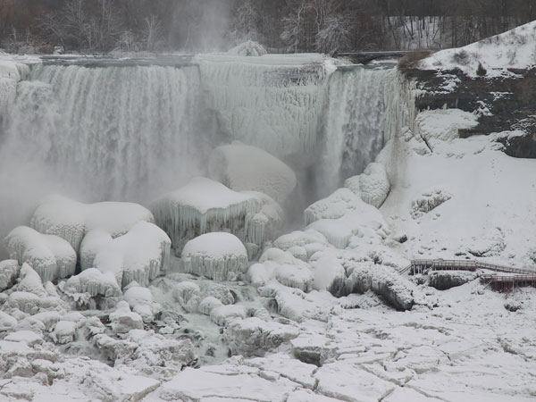
M 121 288 L 132 281 L 147 287 L 167 269 L 171 243 L 155 224 L 138 222 L 115 239 L 101 230 L 88 233 L 88 241 L 82 243 L 80 254 L 84 268 L 91 266 L 103 273 L 113 273 Z

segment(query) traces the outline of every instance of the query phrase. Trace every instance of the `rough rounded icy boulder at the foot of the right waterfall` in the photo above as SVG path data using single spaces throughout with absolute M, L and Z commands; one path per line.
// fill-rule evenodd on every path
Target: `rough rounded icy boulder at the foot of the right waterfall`
M 347 179 L 344 187 L 351 189 L 365 203 L 376 208 L 383 205 L 390 191 L 387 171 L 381 163 L 369 163 L 363 174 Z

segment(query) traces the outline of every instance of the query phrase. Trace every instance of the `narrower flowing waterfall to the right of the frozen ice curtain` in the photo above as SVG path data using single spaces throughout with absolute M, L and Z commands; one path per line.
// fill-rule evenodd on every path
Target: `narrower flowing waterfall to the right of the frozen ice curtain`
M 363 172 L 415 118 L 413 110 L 412 90 L 394 68 L 340 68 L 331 74 L 316 177 L 319 195 Z

